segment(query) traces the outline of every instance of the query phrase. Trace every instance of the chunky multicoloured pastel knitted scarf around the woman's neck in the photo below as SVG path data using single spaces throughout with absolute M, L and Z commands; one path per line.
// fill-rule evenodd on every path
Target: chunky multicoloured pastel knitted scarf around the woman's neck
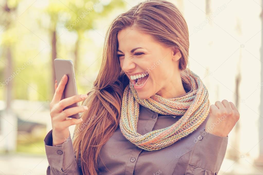
M 154 151 L 173 144 L 192 133 L 209 113 L 208 90 L 198 75 L 188 68 L 180 72 L 183 83 L 193 89 L 182 97 L 163 98 L 154 94 L 140 99 L 132 83 L 125 87 L 122 99 L 120 130 L 126 139 L 141 149 Z M 137 132 L 139 104 L 163 115 L 182 115 L 173 125 L 141 135 Z

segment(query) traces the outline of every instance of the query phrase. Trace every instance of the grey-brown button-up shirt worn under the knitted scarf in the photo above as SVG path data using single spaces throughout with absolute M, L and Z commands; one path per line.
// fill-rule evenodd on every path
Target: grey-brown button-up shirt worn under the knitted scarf
M 137 132 L 166 128 L 182 116 L 158 114 L 140 105 Z M 99 174 L 218 174 L 225 157 L 227 137 L 205 132 L 204 122 L 191 134 L 174 144 L 156 151 L 140 149 L 128 141 L 118 128 L 103 145 L 98 157 Z M 71 136 L 60 145 L 52 146 L 52 130 L 44 139 L 48 159 L 47 174 L 82 174 L 77 165 Z M 103 164 L 103 162 L 105 165 Z

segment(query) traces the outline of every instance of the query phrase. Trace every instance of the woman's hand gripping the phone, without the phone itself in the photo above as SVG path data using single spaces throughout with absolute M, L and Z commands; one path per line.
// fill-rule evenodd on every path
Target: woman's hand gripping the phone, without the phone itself
M 65 107 L 83 101 L 84 99 L 87 98 L 87 94 L 84 95 L 81 94 L 60 100 L 67 82 L 68 82 L 67 75 L 64 75 L 62 77 L 58 85 L 57 82 L 55 82 L 55 94 L 53 96 L 52 101 L 50 102 L 53 146 L 62 144 L 65 141 L 65 139 L 68 138 L 69 126 L 79 124 L 82 122 L 82 118 L 67 119 L 67 117 L 80 112 L 84 112 L 85 110 L 88 109 L 87 106 L 76 106 L 76 107 L 65 109 Z

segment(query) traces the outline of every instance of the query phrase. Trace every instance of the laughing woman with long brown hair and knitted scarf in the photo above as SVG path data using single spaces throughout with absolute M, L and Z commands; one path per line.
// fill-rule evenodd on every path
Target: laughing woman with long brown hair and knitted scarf
M 239 112 L 227 100 L 210 105 L 186 68 L 188 51 L 187 24 L 170 2 L 145 1 L 115 18 L 93 90 L 60 100 L 67 76 L 55 82 L 47 174 L 218 174 Z

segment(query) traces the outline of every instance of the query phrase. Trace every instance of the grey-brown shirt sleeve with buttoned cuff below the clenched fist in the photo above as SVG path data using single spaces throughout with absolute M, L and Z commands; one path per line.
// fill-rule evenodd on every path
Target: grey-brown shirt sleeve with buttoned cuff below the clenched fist
M 205 129 L 200 131 L 191 152 L 185 175 L 216 175 L 225 157 L 228 136 L 221 137 Z

